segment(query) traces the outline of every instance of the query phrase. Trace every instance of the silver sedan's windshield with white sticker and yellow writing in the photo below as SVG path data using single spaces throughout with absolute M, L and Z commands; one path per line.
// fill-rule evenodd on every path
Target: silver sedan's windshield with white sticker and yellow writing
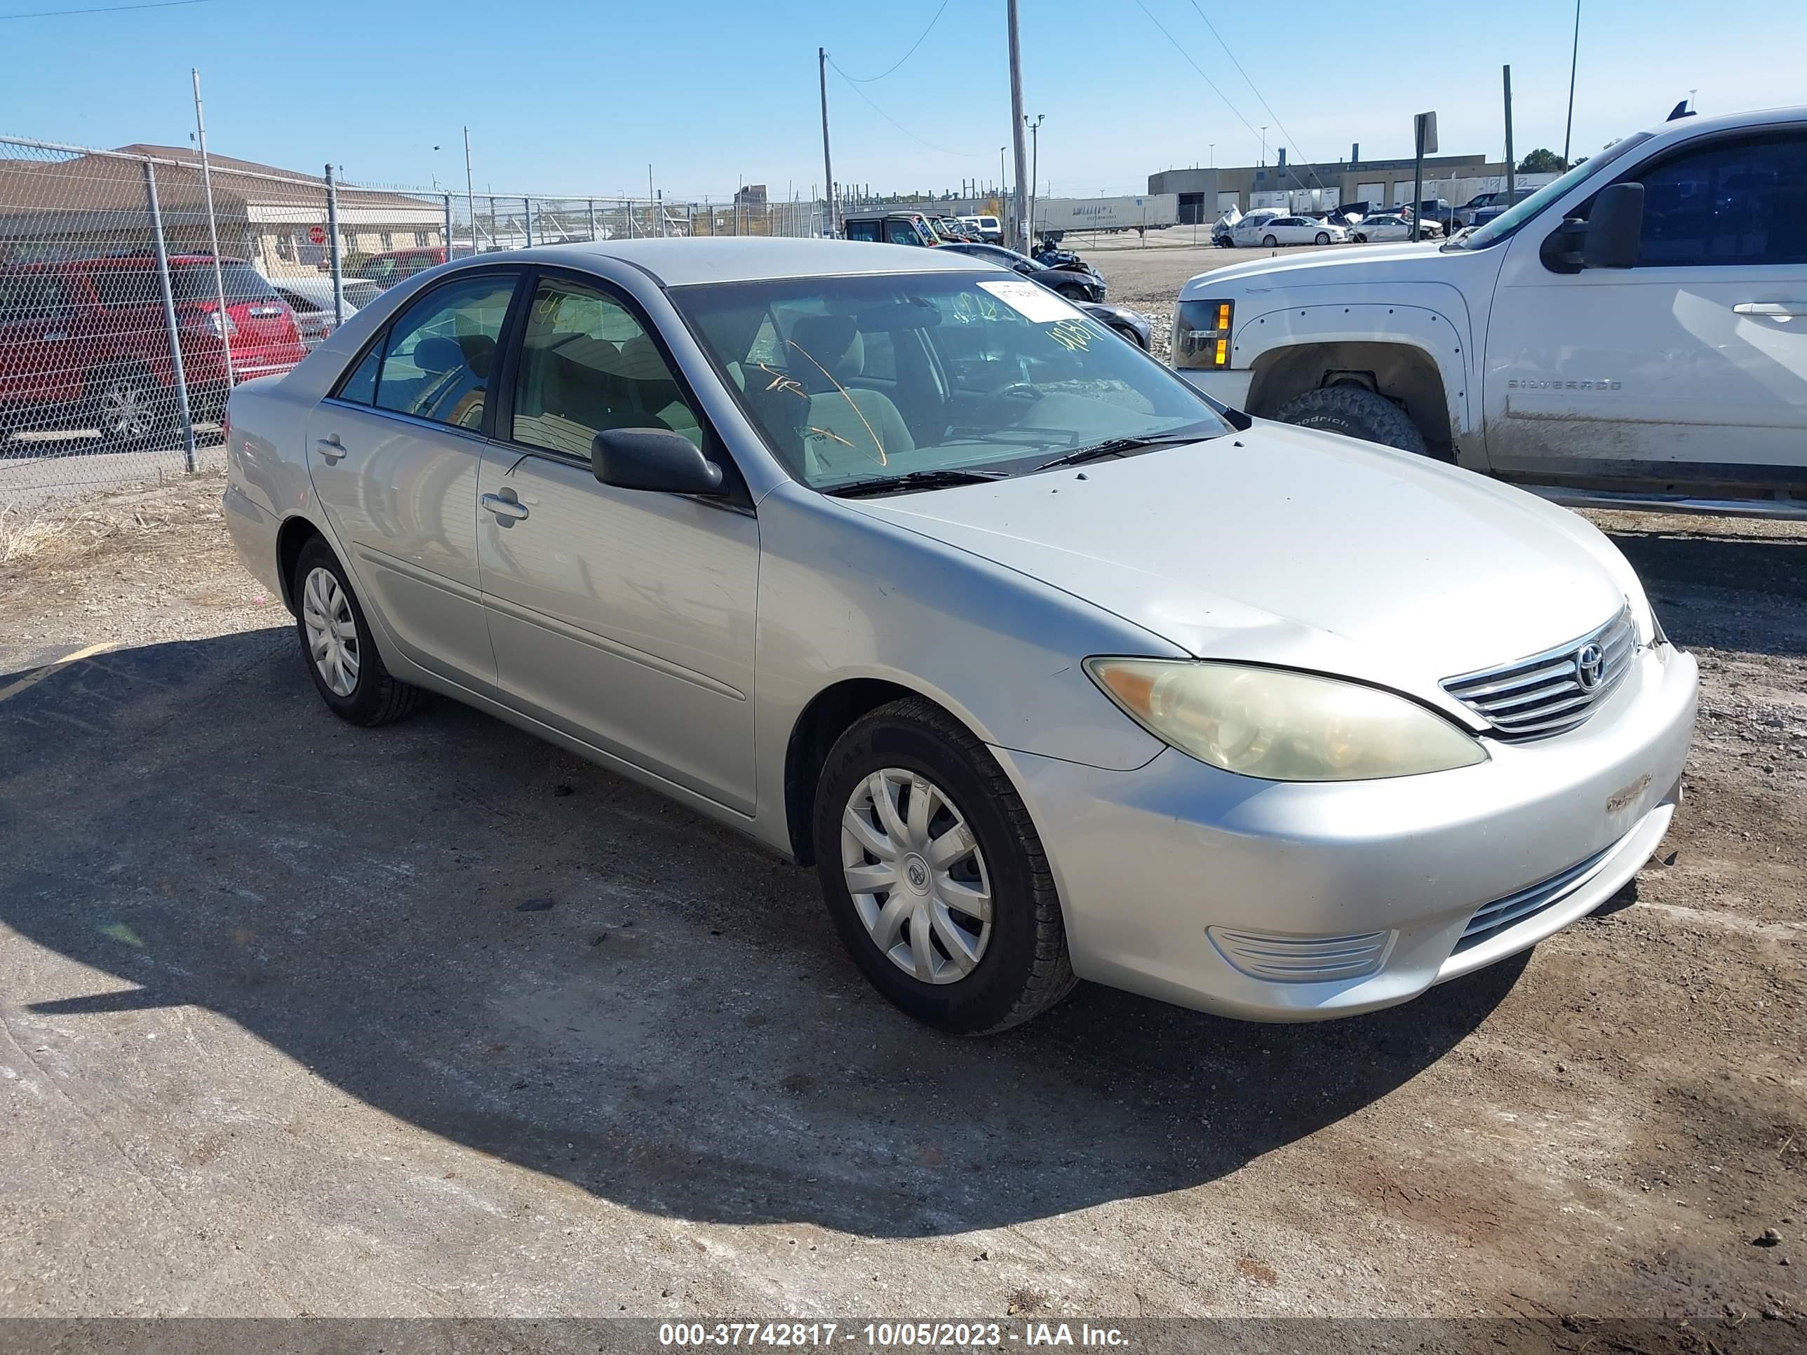
M 672 302 L 766 446 L 813 490 L 1014 475 L 1115 439 L 1229 432 L 1166 367 L 1006 273 L 707 284 Z

